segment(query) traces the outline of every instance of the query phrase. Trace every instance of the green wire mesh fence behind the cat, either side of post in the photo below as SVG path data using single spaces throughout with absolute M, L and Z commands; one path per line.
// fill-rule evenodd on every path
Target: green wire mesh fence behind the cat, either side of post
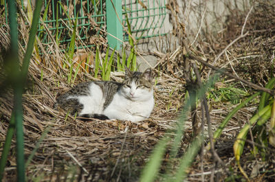
M 32 7 L 34 6 L 34 0 L 21 0 L 25 12 L 28 11 L 28 2 L 32 4 Z M 5 8 L 5 19 L 8 22 L 5 0 L 1 3 L 1 6 Z M 39 23 L 38 36 L 41 38 L 42 43 L 49 44 L 58 41 L 59 45 L 66 46 L 71 41 L 74 21 L 77 19 L 76 26 L 79 35 L 77 39 L 81 39 L 85 46 L 91 47 L 93 45 L 89 41 L 91 36 L 102 34 L 100 32 L 107 32 L 108 26 L 109 30 L 113 30 L 113 27 L 108 25 L 107 21 L 107 19 L 111 19 L 109 22 L 116 21 L 115 26 L 121 26 L 117 29 L 121 32 L 107 32 L 107 34 L 112 34 L 111 38 L 116 37 L 114 41 L 118 41 L 118 43 L 111 45 L 111 47 L 115 47 L 121 45 L 119 39 L 128 41 L 128 34 L 121 25 L 122 22 L 124 27 L 127 27 L 126 14 L 131 25 L 131 32 L 135 38 L 160 36 L 164 34 L 159 31 L 159 28 L 162 27 L 166 17 L 165 3 L 165 0 L 44 0 L 43 18 L 41 17 L 43 22 L 40 21 Z M 115 14 L 108 16 L 112 11 Z M 116 16 L 118 15 L 117 12 L 121 12 L 121 15 Z M 118 23 L 118 21 L 120 22 Z M 107 36 L 107 34 L 102 34 L 102 36 Z M 77 47 L 82 48 L 83 46 L 77 45 Z

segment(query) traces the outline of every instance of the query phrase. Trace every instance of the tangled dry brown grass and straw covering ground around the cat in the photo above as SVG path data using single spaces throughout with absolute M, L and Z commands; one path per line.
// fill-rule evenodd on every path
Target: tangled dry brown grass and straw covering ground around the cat
M 208 63 L 264 87 L 267 80 L 275 76 L 274 10 L 275 4 L 266 1 L 265 3 L 256 3 L 249 16 L 249 10 L 232 10 L 222 31 L 217 34 L 208 34 L 208 36 L 199 36 L 197 44 L 190 49 L 197 56 L 201 56 L 203 60 L 207 60 Z M 243 29 L 243 23 L 247 16 L 248 20 Z M 182 27 L 179 27 L 182 26 L 179 22 L 175 24 L 174 28 L 183 30 Z M 21 37 L 27 34 L 27 31 L 23 30 L 25 29 L 22 25 Z M 3 31 L 2 29 L 1 43 L 3 40 L 8 40 Z M 240 35 L 244 36 L 226 48 Z M 180 42 L 184 37 L 177 38 Z M 8 47 L 8 42 L 3 45 Z M 21 47 L 22 49 L 23 47 Z M 67 83 L 66 75 L 69 70 L 61 65 L 61 60 L 65 59 L 64 55 L 62 52 L 58 52 L 58 54 L 52 52 L 51 55 L 45 53 L 42 57 L 43 62 L 39 62 L 34 56 L 30 62 L 28 87 L 23 95 L 25 157 L 30 156 L 41 137 L 43 137 L 43 141 L 39 144 L 39 148 L 26 170 L 28 180 L 65 181 L 72 179 L 74 174 L 77 174 L 75 181 L 137 181 L 140 170 L 148 160 L 151 150 L 157 144 L 159 137 L 173 127 L 181 111 L 181 105 L 184 103 L 186 91 L 184 70 L 186 70 L 188 59 L 184 56 L 186 50 L 183 49 L 184 45 L 179 45 L 175 49 L 166 50 L 166 54 L 161 54 L 162 58 L 159 58 L 158 66 L 155 69 L 157 80 L 155 109 L 149 120 L 137 124 L 116 120 L 83 122 L 66 115 L 66 113 L 54 110 L 56 95 L 72 87 Z M 216 62 L 213 62 L 224 50 L 224 54 Z M 208 77 L 209 67 L 200 62 L 197 62 L 197 66 L 201 71 L 202 80 L 205 81 Z M 90 73 L 78 72 L 73 84 L 94 80 L 92 74 L 92 71 Z M 1 76 L 3 76 L 2 71 Z M 123 74 L 112 73 L 111 78 L 121 80 Z M 1 81 L 1 85 L 3 84 Z M 212 130 L 217 130 L 221 121 L 236 104 L 232 102 L 232 98 L 227 98 L 226 95 L 223 97 L 219 92 L 219 90 L 229 87 L 241 90 L 239 93 L 232 91 L 233 89 L 230 90 L 232 91 L 230 94 L 235 95 L 238 103 L 255 91 L 238 80 L 221 75 L 219 82 L 208 93 Z M 8 87 L 1 88 L 0 103 L 0 140 L 1 146 L 3 146 L 8 130 L 8 121 L 12 113 L 12 91 Z M 204 178 L 205 181 L 210 179 L 224 181 L 230 172 L 236 176 L 241 174 L 234 163 L 232 146 L 240 128 L 247 123 L 255 109 L 254 102 L 241 109 L 230 120 L 215 145 L 217 154 L 225 163 L 226 169 L 216 165 L 217 161 L 212 158 L 210 152 L 205 152 L 203 155 L 197 156 L 192 163 L 188 170 L 188 181 L 201 181 L 201 178 Z M 200 106 L 198 106 L 198 120 L 201 118 L 200 113 Z M 207 133 L 207 129 L 205 130 Z M 192 133 L 190 117 L 186 122 L 186 133 L 181 141 L 179 157 L 188 148 Z M 206 137 L 206 141 L 208 141 L 208 137 Z M 274 148 L 267 148 L 265 161 L 260 155 L 253 157 L 250 152 L 251 148 L 252 146 L 248 145 L 243 153 L 242 162 L 245 171 L 250 174 L 253 181 L 274 179 Z M 13 140 L 4 181 L 15 181 L 16 178 L 14 150 L 15 141 Z M 241 180 L 241 177 L 238 180 Z

